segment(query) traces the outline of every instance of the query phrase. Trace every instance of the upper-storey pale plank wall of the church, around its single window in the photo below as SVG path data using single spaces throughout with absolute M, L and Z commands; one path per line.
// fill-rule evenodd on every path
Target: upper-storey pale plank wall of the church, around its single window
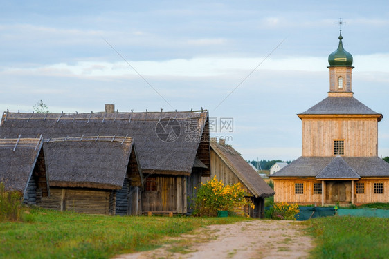
M 302 119 L 302 156 L 334 155 L 334 140 L 345 140 L 345 156 L 377 156 L 377 118 Z

